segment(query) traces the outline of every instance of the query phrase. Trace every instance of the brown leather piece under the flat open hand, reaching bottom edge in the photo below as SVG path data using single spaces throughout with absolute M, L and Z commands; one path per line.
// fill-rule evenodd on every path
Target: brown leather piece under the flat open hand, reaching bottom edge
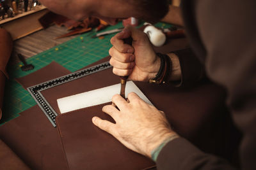
M 115 122 L 102 112 L 102 106 L 104 104 L 61 114 L 56 118 L 69 168 L 144 169 L 154 165 L 152 160 L 132 152 L 92 124 L 94 116 Z

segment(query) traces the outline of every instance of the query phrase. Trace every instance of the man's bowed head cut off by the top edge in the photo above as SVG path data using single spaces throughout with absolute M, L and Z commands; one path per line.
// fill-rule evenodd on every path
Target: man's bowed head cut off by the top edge
M 40 0 L 50 10 L 75 20 L 97 17 L 109 24 L 136 17 L 157 22 L 168 12 L 168 0 Z

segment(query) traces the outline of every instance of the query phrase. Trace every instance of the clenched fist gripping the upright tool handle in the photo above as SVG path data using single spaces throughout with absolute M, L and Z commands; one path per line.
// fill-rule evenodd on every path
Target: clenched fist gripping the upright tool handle
M 125 38 L 133 39 L 132 46 L 124 43 Z M 154 78 L 160 67 L 160 59 L 156 56 L 147 34 L 131 27 L 111 38 L 112 48 L 110 64 L 113 73 L 118 76 L 128 76 L 134 81 L 148 81 Z

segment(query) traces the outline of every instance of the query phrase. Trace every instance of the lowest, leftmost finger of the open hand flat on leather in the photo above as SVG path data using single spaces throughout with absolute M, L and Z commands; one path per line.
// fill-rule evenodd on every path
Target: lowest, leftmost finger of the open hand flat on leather
M 92 122 L 94 125 L 102 129 L 103 131 L 108 132 L 109 134 L 112 134 L 114 136 L 115 134 L 115 124 L 109 122 L 108 120 L 102 120 L 99 117 L 93 117 Z

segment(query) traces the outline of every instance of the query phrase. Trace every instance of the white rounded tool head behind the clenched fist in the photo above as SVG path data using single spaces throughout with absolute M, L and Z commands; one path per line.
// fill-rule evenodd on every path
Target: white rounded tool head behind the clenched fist
M 160 29 L 157 29 L 153 25 L 148 25 L 147 27 L 145 27 L 143 32 L 145 32 L 148 35 L 150 42 L 154 46 L 164 45 L 166 41 L 166 36 Z

